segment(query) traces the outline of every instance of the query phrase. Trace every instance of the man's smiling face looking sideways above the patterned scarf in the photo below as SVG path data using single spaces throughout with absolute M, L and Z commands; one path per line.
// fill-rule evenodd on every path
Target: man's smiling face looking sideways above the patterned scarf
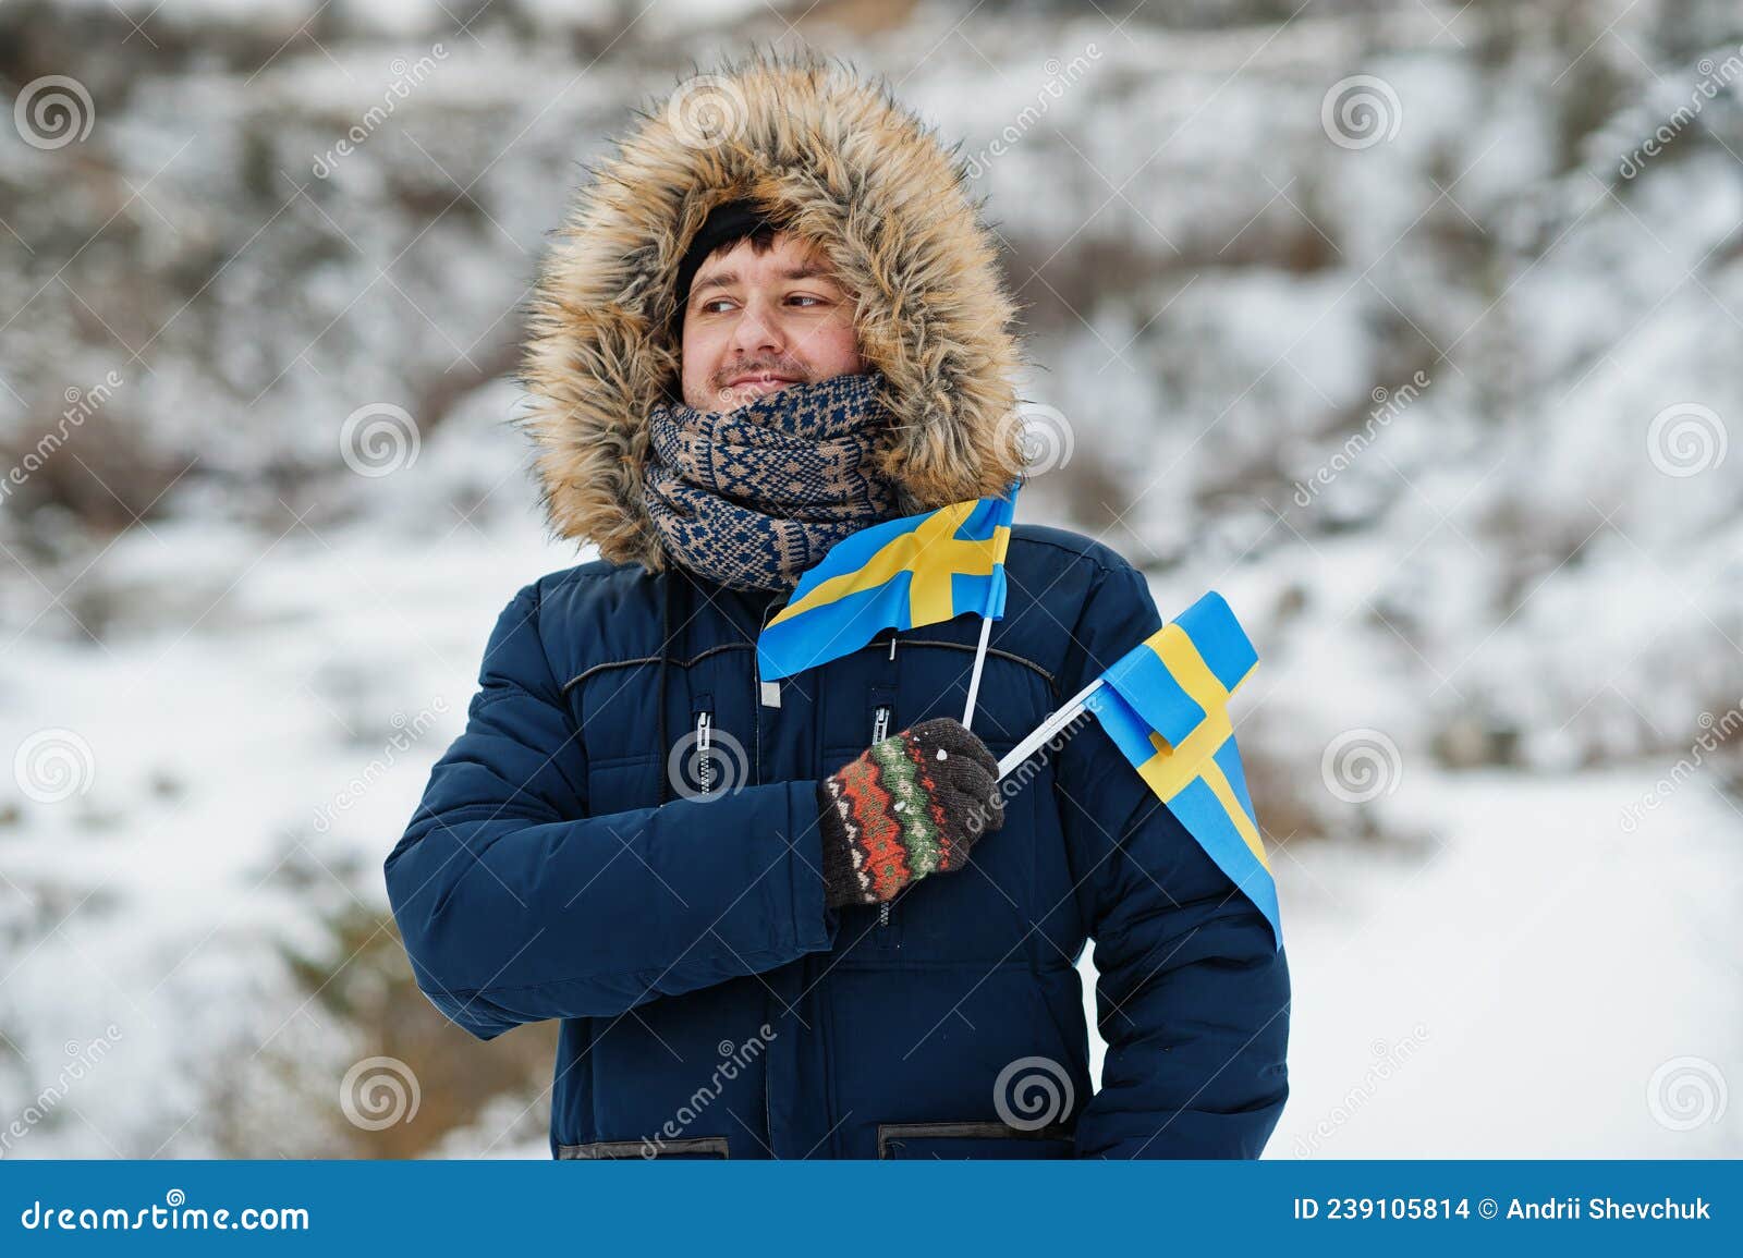
M 821 249 L 786 232 L 760 254 L 739 240 L 695 272 L 682 362 L 683 401 L 699 411 L 854 375 L 863 369 L 854 303 Z

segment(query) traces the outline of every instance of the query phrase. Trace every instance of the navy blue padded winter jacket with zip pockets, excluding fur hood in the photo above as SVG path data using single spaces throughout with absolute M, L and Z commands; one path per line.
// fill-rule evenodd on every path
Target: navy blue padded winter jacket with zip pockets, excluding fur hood
M 1007 575 L 973 725 L 995 754 L 1163 620 L 1075 533 L 1018 524 Z M 817 779 L 960 718 L 980 622 L 770 690 L 753 645 L 783 603 L 605 561 L 526 585 L 387 857 L 448 1018 L 483 1040 L 563 1021 L 553 1153 L 1258 1155 L 1288 1096 L 1285 953 L 1093 721 L 1020 770 L 967 868 L 887 920 L 824 906 Z M 706 795 L 668 772 L 699 734 Z

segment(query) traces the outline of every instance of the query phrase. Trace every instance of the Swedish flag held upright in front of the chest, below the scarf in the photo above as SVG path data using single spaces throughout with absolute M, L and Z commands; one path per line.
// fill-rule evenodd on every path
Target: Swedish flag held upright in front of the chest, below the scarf
M 913 629 L 964 612 L 1004 615 L 1004 552 L 1016 486 L 887 519 L 842 538 L 793 587 L 756 638 L 765 681 L 865 646 L 878 629 Z

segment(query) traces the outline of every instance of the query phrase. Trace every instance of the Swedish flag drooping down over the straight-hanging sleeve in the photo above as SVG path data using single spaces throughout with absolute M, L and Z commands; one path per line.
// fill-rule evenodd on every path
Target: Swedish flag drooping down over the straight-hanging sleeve
M 1138 775 L 1258 911 L 1283 946 L 1278 889 L 1229 721 L 1258 653 L 1210 592 L 1126 652 L 1084 699 Z

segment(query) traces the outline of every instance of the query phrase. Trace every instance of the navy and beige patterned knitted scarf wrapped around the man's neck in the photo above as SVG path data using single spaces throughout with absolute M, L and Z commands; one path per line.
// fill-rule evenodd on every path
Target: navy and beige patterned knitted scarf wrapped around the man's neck
M 791 589 L 824 551 L 896 514 L 872 451 L 877 371 L 788 385 L 732 411 L 659 402 L 647 511 L 666 552 L 732 589 Z

